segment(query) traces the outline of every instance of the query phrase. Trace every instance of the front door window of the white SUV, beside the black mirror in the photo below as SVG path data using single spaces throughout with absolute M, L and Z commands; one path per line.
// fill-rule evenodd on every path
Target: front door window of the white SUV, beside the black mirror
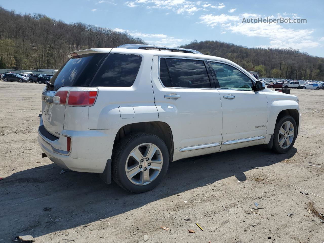
M 251 79 L 233 66 L 223 63 L 210 63 L 215 71 L 219 87 L 237 90 L 252 90 Z

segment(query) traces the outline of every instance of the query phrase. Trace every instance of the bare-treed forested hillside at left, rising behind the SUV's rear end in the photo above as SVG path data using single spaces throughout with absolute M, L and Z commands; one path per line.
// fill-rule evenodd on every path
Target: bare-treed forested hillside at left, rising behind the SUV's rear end
M 42 14 L 21 15 L 0 7 L 0 68 L 58 69 L 75 50 L 145 43 L 128 33 L 87 25 L 67 24 Z

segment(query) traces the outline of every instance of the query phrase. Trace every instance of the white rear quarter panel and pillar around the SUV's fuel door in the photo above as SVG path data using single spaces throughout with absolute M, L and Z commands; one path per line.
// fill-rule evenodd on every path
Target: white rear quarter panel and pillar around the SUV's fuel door
M 143 121 L 158 121 L 151 83 L 151 54 L 138 54 L 133 49 L 112 49 L 110 53 L 136 54 L 142 63 L 131 87 L 98 87 L 94 106 L 89 107 L 89 129 L 120 129 L 122 126 Z M 119 107 L 132 106 L 135 115 L 121 118 Z

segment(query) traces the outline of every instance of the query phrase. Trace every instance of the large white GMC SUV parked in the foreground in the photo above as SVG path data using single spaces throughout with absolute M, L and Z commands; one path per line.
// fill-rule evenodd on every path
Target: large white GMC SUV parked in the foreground
M 169 161 L 251 145 L 289 151 L 298 98 L 224 58 L 122 45 L 72 52 L 42 93 L 42 157 L 149 191 Z M 217 173 L 217 172 L 216 172 Z

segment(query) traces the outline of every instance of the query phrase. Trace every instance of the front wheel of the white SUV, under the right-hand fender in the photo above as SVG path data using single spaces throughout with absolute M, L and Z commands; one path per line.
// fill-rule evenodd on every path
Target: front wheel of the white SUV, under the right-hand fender
M 287 153 L 295 144 L 297 136 L 296 121 L 291 116 L 281 118 L 274 128 L 273 133 L 274 152 L 279 154 Z

